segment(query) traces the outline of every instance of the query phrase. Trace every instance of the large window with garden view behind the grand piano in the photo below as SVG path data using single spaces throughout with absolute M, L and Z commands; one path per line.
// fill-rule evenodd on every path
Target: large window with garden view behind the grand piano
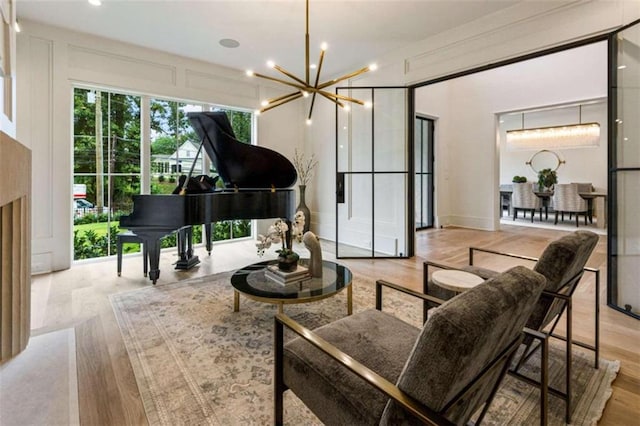
M 74 90 L 74 259 L 115 254 L 119 218 L 133 208 L 133 196 L 143 192 L 172 193 L 182 174 L 215 175 L 204 150 L 196 159 L 198 140 L 187 113 L 216 108 L 167 99 L 118 94 L 90 88 Z M 218 109 L 218 108 L 217 108 Z M 251 143 L 249 112 L 226 110 L 239 140 Z M 142 114 L 148 120 L 141 120 Z M 151 135 L 141 140 L 142 122 Z M 100 141 L 100 143 L 97 143 Z M 145 144 L 148 143 L 149 146 Z M 147 151 L 148 149 L 148 151 Z M 141 153 L 151 153 L 149 188 L 142 188 Z M 202 242 L 201 227 L 194 229 L 194 242 Z M 214 241 L 251 236 L 251 222 L 234 220 L 215 223 Z M 175 235 L 162 240 L 162 247 L 175 247 Z M 136 252 L 137 244 L 124 251 Z

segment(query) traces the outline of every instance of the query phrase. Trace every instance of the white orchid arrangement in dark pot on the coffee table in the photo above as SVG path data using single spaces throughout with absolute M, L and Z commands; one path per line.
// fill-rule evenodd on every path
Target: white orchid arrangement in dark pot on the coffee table
M 292 244 L 295 239 L 302 242 L 304 233 L 304 213 L 297 211 L 293 217 L 293 222 L 286 219 L 277 219 L 275 223 L 269 226 L 267 235 L 258 235 L 256 248 L 258 256 L 263 256 L 266 249 L 271 244 L 282 244 L 282 248 L 276 250 L 278 253 L 278 267 L 283 271 L 294 270 L 298 265 L 300 256 L 293 251 Z

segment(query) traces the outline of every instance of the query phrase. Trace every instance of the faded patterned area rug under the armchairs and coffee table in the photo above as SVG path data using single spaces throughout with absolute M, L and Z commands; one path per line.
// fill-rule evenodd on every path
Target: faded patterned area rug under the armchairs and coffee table
M 149 423 L 152 425 L 271 424 L 273 315 L 276 306 L 241 297 L 233 312 L 231 273 L 147 287 L 111 296 Z M 354 280 L 353 309 L 375 306 L 371 282 Z M 420 304 L 385 293 L 383 309 L 414 325 Z M 285 313 L 314 328 L 346 315 L 346 292 L 320 302 L 286 305 Z M 595 424 L 611 395 L 618 361 L 574 351 L 572 424 Z M 551 347 L 552 382 L 562 383 L 562 352 Z M 528 363 L 530 374 L 537 369 Z M 539 392 L 506 377 L 483 424 L 539 424 Z M 549 397 L 550 424 L 564 424 L 564 403 Z M 287 424 L 317 424 L 291 392 L 285 394 Z

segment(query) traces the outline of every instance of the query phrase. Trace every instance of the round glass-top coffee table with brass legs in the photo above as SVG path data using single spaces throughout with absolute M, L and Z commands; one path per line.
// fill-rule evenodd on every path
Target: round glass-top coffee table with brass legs
M 307 266 L 308 259 L 300 259 L 301 265 Z M 347 314 L 353 312 L 351 271 L 349 268 L 331 262 L 322 261 L 322 278 L 307 278 L 289 284 L 277 283 L 264 275 L 269 265 L 276 264 L 276 260 L 254 263 L 238 269 L 231 276 L 233 286 L 233 311 L 240 310 L 240 294 L 259 302 L 278 305 L 278 312 L 282 313 L 283 306 L 294 303 L 309 303 L 335 296 L 342 290 L 347 290 Z

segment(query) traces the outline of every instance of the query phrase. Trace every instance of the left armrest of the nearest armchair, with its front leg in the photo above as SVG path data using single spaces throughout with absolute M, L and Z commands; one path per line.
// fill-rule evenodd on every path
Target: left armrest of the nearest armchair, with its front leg
M 285 314 L 276 314 L 274 317 L 275 321 L 275 357 L 276 357 L 276 365 L 275 368 L 282 368 L 282 357 L 284 355 L 284 327 L 295 332 L 302 339 L 311 343 L 313 346 L 329 355 L 331 358 L 336 360 L 342 366 L 353 372 L 355 375 L 369 383 L 374 388 L 383 392 L 389 398 L 395 400 L 398 404 L 404 407 L 407 411 L 413 414 L 415 417 L 420 419 L 420 421 L 431 424 L 431 425 L 453 425 L 454 423 L 447 420 L 442 415 L 437 412 L 425 407 L 423 404 L 416 401 L 410 395 L 406 394 L 402 390 L 400 390 L 396 385 L 380 376 L 375 371 L 371 370 L 364 364 L 353 359 L 348 354 L 342 352 L 340 349 L 336 348 L 313 331 L 308 328 L 300 325 L 293 319 L 289 318 Z M 280 373 L 276 371 L 276 375 Z

